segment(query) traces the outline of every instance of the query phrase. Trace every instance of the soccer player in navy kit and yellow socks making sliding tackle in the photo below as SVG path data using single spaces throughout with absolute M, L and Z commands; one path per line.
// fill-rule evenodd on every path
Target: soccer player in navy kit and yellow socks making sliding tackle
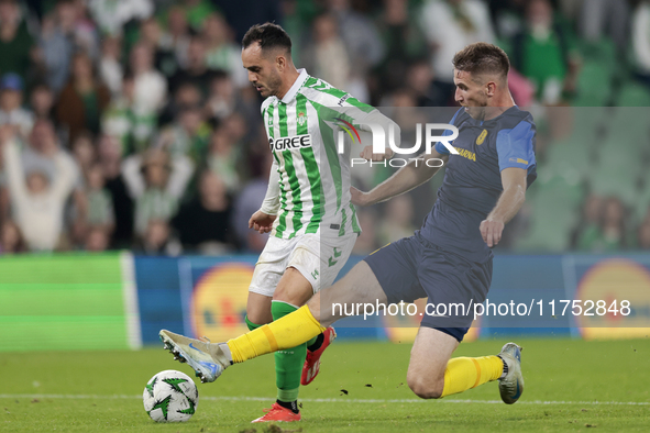
M 450 154 L 437 143 L 423 159 L 447 164 L 438 200 L 414 236 L 388 244 L 365 257 L 332 287 L 317 293 L 307 306 L 262 329 L 228 343 L 207 344 L 161 332 L 168 348 L 195 343 L 201 359 L 219 374 L 234 363 L 264 353 L 294 347 L 318 335 L 341 318 L 333 303 L 483 302 L 492 280 L 491 248 L 498 244 L 504 225 L 525 201 L 536 178 L 531 115 L 521 111 L 508 90 L 509 60 L 503 49 L 486 43 L 469 45 L 453 60 L 455 100 L 462 108 L 452 119 L 459 136 Z M 371 190 L 352 190 L 352 201 L 371 206 L 404 193 L 429 180 L 438 168 L 422 159 L 399 169 Z M 472 323 L 472 312 L 425 315 L 414 343 L 407 381 L 421 398 L 441 398 L 481 384 L 499 380 L 502 399 L 516 402 L 524 390 L 520 347 L 507 343 L 497 356 L 451 355 Z M 201 357 L 198 352 L 195 354 Z

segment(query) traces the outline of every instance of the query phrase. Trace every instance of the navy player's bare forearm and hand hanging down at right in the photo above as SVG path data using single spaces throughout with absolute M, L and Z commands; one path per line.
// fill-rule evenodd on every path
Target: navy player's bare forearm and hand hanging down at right
M 526 201 L 526 176 L 524 168 L 509 167 L 502 170 L 504 192 L 487 218 L 481 222 L 481 235 L 489 246 L 496 246 L 502 240 L 502 233 Z

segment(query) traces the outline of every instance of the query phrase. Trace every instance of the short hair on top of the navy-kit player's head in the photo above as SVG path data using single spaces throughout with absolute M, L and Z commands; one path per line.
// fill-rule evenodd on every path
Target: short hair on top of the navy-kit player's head
M 510 60 L 508 55 L 496 45 L 485 42 L 470 44 L 453 57 L 453 67 L 470 74 L 496 74 L 508 77 Z

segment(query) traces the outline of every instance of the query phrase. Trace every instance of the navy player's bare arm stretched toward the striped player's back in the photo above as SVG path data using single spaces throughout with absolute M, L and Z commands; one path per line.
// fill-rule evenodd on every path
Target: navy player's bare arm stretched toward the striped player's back
M 409 164 L 401 167 L 393 176 L 377 185 L 368 192 L 360 191 L 356 188 L 351 188 L 352 203 L 359 206 L 372 206 L 382 201 L 388 200 L 392 197 L 410 191 L 415 187 L 422 185 L 431 179 L 440 169 L 438 167 L 429 167 L 427 162 L 429 159 L 441 159 L 444 163 L 449 159 L 449 155 L 441 155 L 436 149 L 431 149 L 431 154 L 422 154 L 417 158 L 410 160 Z M 436 164 L 438 165 L 438 164 Z

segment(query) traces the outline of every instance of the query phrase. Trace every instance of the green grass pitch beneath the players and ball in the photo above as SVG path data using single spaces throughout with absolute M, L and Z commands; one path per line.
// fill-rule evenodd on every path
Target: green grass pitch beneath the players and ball
M 324 355 L 319 378 L 301 390 L 302 422 L 280 426 L 305 433 L 650 431 L 650 338 L 518 342 L 526 348 L 526 391 L 514 406 L 492 403 L 498 400 L 496 384 L 439 401 L 418 400 L 405 384 L 410 345 L 339 342 Z M 503 343 L 462 344 L 456 355 L 495 354 Z M 274 400 L 272 356 L 234 366 L 214 384 L 199 384 L 198 410 L 189 422 L 156 424 L 139 396 L 155 373 L 172 368 L 190 374 L 162 348 L 1 353 L 0 431 L 268 430 L 250 421 Z M 395 399 L 405 401 L 386 401 Z

